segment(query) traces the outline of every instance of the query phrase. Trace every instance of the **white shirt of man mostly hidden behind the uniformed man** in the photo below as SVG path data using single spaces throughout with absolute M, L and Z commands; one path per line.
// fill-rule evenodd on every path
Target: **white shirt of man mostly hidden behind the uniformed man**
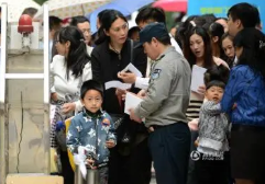
M 178 43 L 175 41 L 175 38 L 172 36 L 170 33 L 169 33 L 169 36 L 170 36 L 172 46 L 175 47 L 177 53 L 179 53 L 181 56 L 184 56 L 181 48 L 179 47 Z M 136 80 L 135 80 L 135 87 L 136 88 L 143 89 L 143 90 L 146 90 L 148 88 L 148 84 L 150 84 L 150 78 L 148 77 L 150 77 L 151 62 L 152 62 L 152 60 L 147 59 L 146 78 L 136 77 Z

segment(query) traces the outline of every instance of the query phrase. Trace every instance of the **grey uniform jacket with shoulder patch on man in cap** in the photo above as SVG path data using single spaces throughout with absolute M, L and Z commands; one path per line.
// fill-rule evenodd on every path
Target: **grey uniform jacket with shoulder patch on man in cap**
M 186 110 L 190 94 L 190 66 L 174 47 L 168 47 L 151 69 L 147 95 L 135 108 L 145 126 L 187 123 Z

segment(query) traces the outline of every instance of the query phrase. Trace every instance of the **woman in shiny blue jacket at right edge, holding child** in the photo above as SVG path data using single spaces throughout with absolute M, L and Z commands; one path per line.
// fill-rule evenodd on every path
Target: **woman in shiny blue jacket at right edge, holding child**
M 239 59 L 231 70 L 222 111 L 230 115 L 231 170 L 236 184 L 263 184 L 265 171 L 265 35 L 244 28 L 234 38 Z

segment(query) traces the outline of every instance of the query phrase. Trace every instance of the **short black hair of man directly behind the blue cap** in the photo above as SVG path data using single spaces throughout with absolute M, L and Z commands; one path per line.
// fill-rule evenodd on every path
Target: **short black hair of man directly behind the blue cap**
M 140 10 L 135 22 L 136 24 L 140 24 L 141 22 L 146 22 L 148 20 L 154 20 L 154 22 L 162 22 L 166 24 L 166 15 L 164 10 L 161 8 L 146 7 Z

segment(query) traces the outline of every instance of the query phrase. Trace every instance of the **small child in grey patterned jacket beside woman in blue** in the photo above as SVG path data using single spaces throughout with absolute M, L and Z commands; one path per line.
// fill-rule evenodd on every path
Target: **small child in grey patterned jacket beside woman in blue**
M 200 108 L 197 147 L 199 157 L 195 162 L 198 184 L 229 182 L 229 161 L 225 152 L 229 151 L 229 123 L 224 113 L 221 113 L 220 105 L 224 87 L 222 81 L 210 81 L 205 94 L 208 101 Z

